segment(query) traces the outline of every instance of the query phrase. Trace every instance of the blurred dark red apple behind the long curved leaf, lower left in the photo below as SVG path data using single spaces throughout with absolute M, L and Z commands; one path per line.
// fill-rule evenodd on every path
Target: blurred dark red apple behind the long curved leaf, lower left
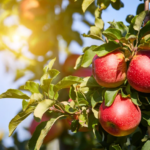
M 48 121 L 50 119 L 50 117 L 43 115 L 41 122 L 43 121 Z M 41 122 L 36 122 L 34 119 L 32 120 L 30 127 L 29 127 L 29 132 L 31 133 L 31 135 L 34 133 L 36 127 L 41 123 Z M 61 120 L 58 120 L 50 129 L 50 131 L 48 132 L 48 134 L 46 135 L 43 144 L 47 144 L 50 141 L 52 141 L 53 139 L 59 137 L 61 135 L 61 133 L 64 130 L 64 126 L 63 126 L 63 122 Z

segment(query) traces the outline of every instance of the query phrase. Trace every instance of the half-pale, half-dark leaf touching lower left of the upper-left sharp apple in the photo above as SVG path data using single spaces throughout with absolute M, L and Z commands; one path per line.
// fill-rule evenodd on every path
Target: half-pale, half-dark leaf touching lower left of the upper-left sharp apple
M 100 85 L 96 82 L 93 76 L 86 77 L 83 79 L 83 82 L 80 84 L 80 87 L 100 87 Z

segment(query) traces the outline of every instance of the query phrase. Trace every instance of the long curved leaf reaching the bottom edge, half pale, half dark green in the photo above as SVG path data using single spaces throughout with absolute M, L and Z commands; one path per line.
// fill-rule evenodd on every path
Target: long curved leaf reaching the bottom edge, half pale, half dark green
M 29 150 L 40 150 L 43 140 L 54 123 L 64 117 L 65 115 L 51 117 L 49 121 L 42 122 L 39 124 L 33 133 L 32 138 L 29 140 Z

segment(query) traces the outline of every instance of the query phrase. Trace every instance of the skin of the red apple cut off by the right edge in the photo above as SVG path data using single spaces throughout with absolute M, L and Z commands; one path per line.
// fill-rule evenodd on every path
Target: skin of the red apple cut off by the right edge
M 127 79 L 137 91 L 150 93 L 150 51 L 139 51 L 130 62 Z

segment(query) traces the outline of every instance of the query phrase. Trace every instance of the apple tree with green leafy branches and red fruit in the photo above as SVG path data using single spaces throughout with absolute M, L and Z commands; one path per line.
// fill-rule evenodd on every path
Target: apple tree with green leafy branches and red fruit
M 57 132 L 57 128 L 52 128 L 59 121 L 61 127 L 64 127 L 64 133 L 67 130 L 74 133 L 60 136 L 66 145 L 64 139 L 67 139 L 67 136 L 72 140 L 72 149 L 147 150 L 150 146 L 149 1 L 145 0 L 144 4 L 138 6 L 136 16 L 127 16 L 129 26 L 123 22 L 113 21 L 109 22 L 109 27 L 105 30 L 101 14 L 109 5 L 120 9 L 123 6 L 120 0 L 70 1 L 68 7 L 59 14 L 54 13 L 54 6 L 61 5 L 61 0 L 33 1 L 34 8 L 24 8 L 28 2 L 24 0 L 19 5 L 19 15 L 21 23 L 33 30 L 29 50 L 34 55 L 44 57 L 43 62 L 38 62 L 35 57 L 36 67 L 39 67 L 37 64 L 43 67 L 49 59 L 50 61 L 38 76 L 36 74 L 39 69 L 28 64 L 26 69 L 30 70 L 33 67 L 31 70 L 35 77 L 19 89 L 8 89 L 0 95 L 0 98 L 22 100 L 22 110 L 10 121 L 9 135 L 11 136 L 17 126 L 33 113 L 35 122 L 38 123 L 28 141 L 29 150 L 43 148 L 42 144 L 47 144 L 46 137 L 50 131 L 51 134 L 52 131 Z M 7 7 L 4 9 L 13 5 L 14 3 L 5 5 Z M 75 6 L 78 9 L 73 10 Z M 82 10 L 78 6 L 82 6 Z M 73 74 L 66 76 L 61 72 L 58 61 L 58 35 L 61 35 L 67 44 L 76 40 L 82 45 L 79 34 L 71 29 L 72 14 L 76 11 L 81 14 L 82 11 L 89 11 L 95 16 L 95 24 L 90 27 L 88 34 L 83 34 L 83 37 L 103 41 L 100 46 L 91 45 L 83 48 L 83 54 L 76 60 L 74 69 L 91 69 L 92 75 L 88 77 Z M 46 17 L 43 17 L 45 14 Z M 84 14 L 82 17 L 83 21 L 89 24 L 84 20 Z M 64 19 L 70 22 L 63 22 Z M 70 26 L 66 26 L 66 23 Z M 35 43 L 38 44 L 35 46 Z M 7 47 L 4 43 L 2 45 Z M 44 50 L 41 50 L 42 48 Z M 51 56 L 46 55 L 49 49 L 52 51 Z M 39 76 L 40 82 L 34 82 Z M 29 91 L 30 95 L 22 90 Z M 67 95 L 68 99 L 63 98 L 64 95 Z M 44 116 L 48 119 L 44 120 Z

